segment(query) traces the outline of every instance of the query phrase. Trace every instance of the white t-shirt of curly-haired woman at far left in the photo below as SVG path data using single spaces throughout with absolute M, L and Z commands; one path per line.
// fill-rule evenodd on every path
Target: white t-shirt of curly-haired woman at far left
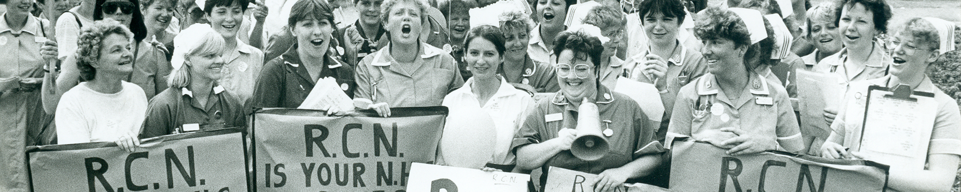
M 85 82 L 63 93 L 55 117 L 58 143 L 112 142 L 124 133 L 139 133 L 147 96 L 136 84 L 121 85 L 120 92 L 105 94 Z

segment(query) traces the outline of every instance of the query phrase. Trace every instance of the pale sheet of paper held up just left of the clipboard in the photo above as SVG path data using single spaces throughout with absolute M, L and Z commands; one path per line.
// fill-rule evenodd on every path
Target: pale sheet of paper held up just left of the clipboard
M 825 108 L 840 107 L 841 84 L 830 74 L 797 70 L 797 75 L 801 134 L 827 138 L 831 128 L 825 123 Z

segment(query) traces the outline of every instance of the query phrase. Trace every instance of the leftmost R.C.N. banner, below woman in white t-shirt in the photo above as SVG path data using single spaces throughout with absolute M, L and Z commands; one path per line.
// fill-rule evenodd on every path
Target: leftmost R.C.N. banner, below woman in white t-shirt
M 112 142 L 31 147 L 34 191 L 247 191 L 238 129 L 145 139 L 134 153 Z

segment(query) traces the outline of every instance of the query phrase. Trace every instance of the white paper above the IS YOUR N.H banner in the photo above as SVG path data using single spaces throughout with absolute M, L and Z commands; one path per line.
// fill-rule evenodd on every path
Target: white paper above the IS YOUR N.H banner
M 327 110 L 332 107 L 339 108 L 339 111 L 354 110 L 354 101 L 340 89 L 336 80 L 327 77 L 313 85 L 307 99 L 297 108 Z

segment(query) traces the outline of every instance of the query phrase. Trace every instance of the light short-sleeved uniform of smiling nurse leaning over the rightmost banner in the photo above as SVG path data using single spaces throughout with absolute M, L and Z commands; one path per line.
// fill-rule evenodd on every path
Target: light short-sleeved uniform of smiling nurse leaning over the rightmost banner
M 737 100 L 728 99 L 713 74 L 705 74 L 678 93 L 668 132 L 693 135 L 705 130 L 737 128 L 777 139 L 788 152 L 804 149 L 787 91 L 776 81 L 750 73 Z

